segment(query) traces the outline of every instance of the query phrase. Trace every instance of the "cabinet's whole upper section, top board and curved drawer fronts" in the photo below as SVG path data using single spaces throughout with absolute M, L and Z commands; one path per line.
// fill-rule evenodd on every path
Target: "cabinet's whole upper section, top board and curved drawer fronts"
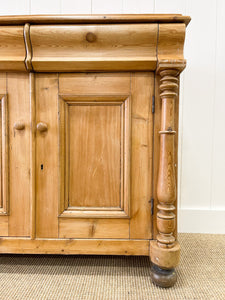
M 60 25 L 66 19 L 68 22 Z M 39 16 L 38 20 L 37 16 L 20 16 L 0 17 L 0 24 L 9 20 L 10 25 L 25 22 L 24 26 L 2 26 L 0 70 L 96 72 L 153 71 L 157 61 L 183 59 L 185 28 L 190 18 L 86 15 Z M 49 24 L 51 20 L 53 24 Z

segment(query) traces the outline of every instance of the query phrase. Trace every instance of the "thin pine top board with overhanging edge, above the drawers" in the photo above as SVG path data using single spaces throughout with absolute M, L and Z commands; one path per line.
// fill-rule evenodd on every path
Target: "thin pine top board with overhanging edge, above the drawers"
M 0 25 L 90 24 L 90 23 L 185 23 L 191 18 L 181 14 L 114 14 L 114 15 L 20 15 L 1 16 Z

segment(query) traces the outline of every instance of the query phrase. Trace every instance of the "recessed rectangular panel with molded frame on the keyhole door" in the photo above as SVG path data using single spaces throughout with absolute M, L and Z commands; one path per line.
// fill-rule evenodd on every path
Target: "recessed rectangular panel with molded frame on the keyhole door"
M 89 107 L 91 107 L 91 114 L 89 114 Z M 73 110 L 73 111 L 72 111 Z M 78 110 L 76 112 L 76 110 Z M 76 160 L 79 160 L 79 155 L 83 158 L 83 153 L 79 154 L 80 149 L 76 147 L 74 153 L 77 153 L 78 158 L 75 159 L 77 168 L 77 174 L 72 174 L 73 179 L 75 178 L 80 186 L 77 186 L 75 182 L 75 190 L 71 194 L 71 178 L 70 178 L 70 165 L 73 163 L 73 157 L 71 156 L 71 144 L 70 144 L 70 118 L 72 114 L 75 114 L 76 118 L 73 119 L 73 122 L 76 122 L 76 126 L 81 128 L 80 126 L 86 126 L 87 130 L 92 130 L 91 135 L 96 135 L 97 141 L 101 144 L 103 141 L 104 147 L 102 146 L 102 154 L 101 157 L 98 157 L 96 153 L 96 157 L 100 159 L 104 159 L 104 165 L 107 165 L 107 173 L 104 173 L 104 177 L 106 176 L 104 190 L 110 191 L 108 196 L 111 198 L 101 198 L 101 193 L 99 197 L 99 205 L 90 205 L 91 202 L 98 204 L 98 199 L 91 191 L 88 191 L 87 185 L 84 180 L 79 177 L 79 173 L 82 174 L 81 166 L 79 168 L 79 164 L 77 164 Z M 103 119 L 101 126 L 96 125 L 96 120 L 98 121 L 98 113 L 99 118 Z M 104 116 L 105 114 L 105 116 Z M 94 116 L 96 115 L 97 118 Z M 116 118 L 116 122 L 115 119 Z M 80 119 L 83 118 L 83 119 Z M 88 119 L 89 118 L 89 119 Z M 90 120 L 90 118 L 92 118 Z M 94 119 L 93 119 L 94 118 Z M 110 118 L 111 118 L 111 127 L 110 127 Z M 129 201 L 130 201 L 130 118 L 131 118 L 131 109 L 130 109 L 130 97 L 129 95 L 59 95 L 59 156 L 60 156 L 60 205 L 59 205 L 59 216 L 60 217 L 69 217 L 69 218 L 129 218 Z M 80 119 L 80 121 L 77 119 Z M 104 123 L 105 122 L 105 123 Z M 119 125 L 117 124 L 119 123 Z M 91 125 L 90 125 L 91 124 Z M 102 126 L 105 125 L 105 126 Z M 91 126 L 93 128 L 91 128 Z M 116 128 L 120 126 L 120 128 Z M 104 128 L 105 127 L 105 128 Z M 73 128 L 74 129 L 74 128 Z M 83 127 L 82 127 L 83 129 Z M 72 130 L 75 133 L 76 130 Z M 79 131 L 79 130 L 77 130 Z M 117 131 L 117 136 L 114 136 L 114 139 L 110 139 L 110 145 L 107 145 L 107 141 L 109 142 L 109 137 L 107 137 L 107 132 L 115 135 L 115 131 Z M 86 148 L 86 152 L 93 154 L 93 148 L 91 152 L 89 151 L 92 145 L 90 144 L 90 139 L 86 137 L 87 140 L 84 140 L 82 137 L 82 133 L 77 132 L 79 137 L 73 138 L 76 139 L 78 144 L 85 143 L 88 147 Z M 101 136 L 100 136 L 101 135 Z M 100 136 L 100 137 L 99 137 Z M 118 138 L 119 137 L 119 138 Z M 95 141 L 95 138 L 94 142 Z M 118 141 L 119 140 L 119 141 Z M 113 142 L 112 142 L 113 141 Z M 119 142 L 119 144 L 118 144 Z M 72 143 L 74 143 L 72 141 Z M 93 146 L 94 147 L 94 146 Z M 106 150 L 105 150 L 106 149 Z M 116 152 L 116 153 L 115 153 Z M 110 161 L 110 155 L 112 158 L 115 158 L 115 161 Z M 72 157 L 72 159 L 71 159 Z M 95 167 L 95 170 L 101 169 L 101 165 L 98 159 L 95 157 L 94 166 L 88 165 L 88 168 Z M 104 157 L 104 158 L 102 158 Z M 119 158 L 119 161 L 118 161 Z M 89 159 L 89 158 L 86 158 Z M 86 160 L 85 159 L 85 160 Z M 114 165 L 115 164 L 115 165 Z M 72 169 L 72 167 L 71 167 Z M 87 170 L 86 170 L 87 171 Z M 100 170 L 102 171 L 102 170 Z M 100 173 L 99 171 L 99 173 Z M 118 172 L 118 173 L 117 173 Z M 88 175 L 89 184 L 90 181 L 94 178 L 92 175 Z M 116 175 L 117 174 L 117 175 Z M 76 177 L 78 176 L 78 177 Z M 92 177 L 91 177 L 92 176 Z M 103 177 L 100 176 L 102 180 Z M 98 179 L 99 180 L 99 179 Z M 74 182 L 74 181 L 73 181 Z M 116 182 L 116 183 L 115 183 Z M 85 185 L 85 186 L 82 186 Z M 93 184 L 95 187 L 96 184 Z M 113 189 L 114 187 L 114 189 Z M 80 188 L 80 192 L 78 189 Z M 83 190 L 82 190 L 83 188 Z M 98 188 L 98 187 L 97 187 Z M 85 190 L 85 192 L 84 192 Z M 80 205 L 74 205 L 72 203 L 71 198 L 77 191 L 77 202 Z M 82 195 L 84 199 L 82 198 Z M 92 201 L 90 197 L 93 197 Z M 86 200 L 85 200 L 86 199 Z M 88 203 L 88 205 L 85 205 Z M 101 205 L 102 204 L 102 205 Z

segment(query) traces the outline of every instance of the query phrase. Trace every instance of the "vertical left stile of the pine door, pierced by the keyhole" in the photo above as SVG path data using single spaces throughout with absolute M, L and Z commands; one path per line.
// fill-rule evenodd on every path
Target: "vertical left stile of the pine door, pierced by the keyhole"
M 36 75 L 36 236 L 58 237 L 58 75 Z

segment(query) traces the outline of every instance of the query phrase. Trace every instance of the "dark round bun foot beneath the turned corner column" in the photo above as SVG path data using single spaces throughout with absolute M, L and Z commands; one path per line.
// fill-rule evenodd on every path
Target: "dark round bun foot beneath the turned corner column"
M 161 269 L 155 264 L 151 266 L 152 282 L 160 287 L 168 288 L 173 286 L 177 281 L 175 269 Z

